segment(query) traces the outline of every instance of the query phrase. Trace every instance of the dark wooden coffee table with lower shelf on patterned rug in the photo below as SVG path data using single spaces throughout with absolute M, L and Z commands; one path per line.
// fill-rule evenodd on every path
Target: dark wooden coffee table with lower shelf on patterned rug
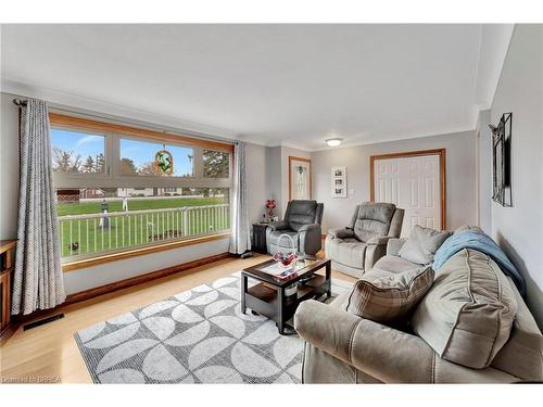
M 329 259 L 305 260 L 296 263 L 296 272 L 287 279 L 278 278 L 263 271 L 276 263 L 270 259 L 241 271 L 241 311 L 247 308 L 262 314 L 277 322 L 280 334 L 285 334 L 287 321 L 292 318 L 302 301 L 318 298 L 326 294 L 331 295 L 331 263 Z M 316 271 L 325 269 L 325 275 Z M 257 284 L 248 288 L 248 278 L 257 281 Z M 298 284 L 296 293 L 285 295 L 285 290 L 291 284 Z M 291 327 L 289 327 L 291 328 Z

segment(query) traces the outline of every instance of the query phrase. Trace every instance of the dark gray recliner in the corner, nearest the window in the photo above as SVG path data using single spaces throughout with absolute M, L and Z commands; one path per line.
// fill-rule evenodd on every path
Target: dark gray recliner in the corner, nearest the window
M 285 219 L 273 222 L 266 229 L 268 253 L 274 255 L 287 240 L 278 241 L 281 234 L 288 234 L 294 241 L 296 251 L 306 255 L 315 255 L 321 247 L 320 222 L 324 205 L 317 201 L 290 201 Z

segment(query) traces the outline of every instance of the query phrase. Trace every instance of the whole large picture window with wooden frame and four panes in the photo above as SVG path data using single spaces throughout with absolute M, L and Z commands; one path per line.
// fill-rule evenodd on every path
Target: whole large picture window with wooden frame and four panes
M 63 263 L 229 230 L 231 145 L 52 116 Z

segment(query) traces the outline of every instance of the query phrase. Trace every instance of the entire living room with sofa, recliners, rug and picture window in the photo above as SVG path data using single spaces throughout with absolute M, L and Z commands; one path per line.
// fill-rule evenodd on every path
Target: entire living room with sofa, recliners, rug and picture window
M 1 382 L 543 382 L 543 24 L 478 17 L 2 22 Z

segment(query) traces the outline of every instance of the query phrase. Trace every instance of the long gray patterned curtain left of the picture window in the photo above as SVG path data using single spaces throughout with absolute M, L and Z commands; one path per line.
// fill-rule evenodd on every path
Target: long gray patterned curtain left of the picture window
M 21 109 L 21 186 L 12 314 L 30 314 L 64 302 L 54 207 L 51 135 L 47 104 Z

